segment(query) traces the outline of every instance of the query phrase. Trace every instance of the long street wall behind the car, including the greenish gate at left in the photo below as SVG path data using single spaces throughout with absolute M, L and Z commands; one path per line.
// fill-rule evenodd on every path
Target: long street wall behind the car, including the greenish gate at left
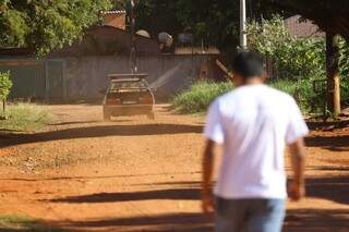
M 189 88 L 204 71 L 203 64 L 215 69 L 216 56 L 154 54 L 139 56 L 140 73 L 147 73 L 151 87 L 158 99 L 170 98 Z M 0 71 L 11 71 L 11 98 L 61 100 L 100 99 L 99 90 L 107 88 L 109 74 L 130 73 L 128 56 L 72 56 L 34 59 L 2 58 Z M 205 77 L 219 80 L 218 72 L 205 72 Z

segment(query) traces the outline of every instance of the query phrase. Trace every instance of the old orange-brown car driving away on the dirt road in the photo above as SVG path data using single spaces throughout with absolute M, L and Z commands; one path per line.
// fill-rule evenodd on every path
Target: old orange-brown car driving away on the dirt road
M 111 74 L 103 101 L 105 121 L 111 117 L 145 114 L 155 119 L 155 98 L 146 81 L 147 74 Z

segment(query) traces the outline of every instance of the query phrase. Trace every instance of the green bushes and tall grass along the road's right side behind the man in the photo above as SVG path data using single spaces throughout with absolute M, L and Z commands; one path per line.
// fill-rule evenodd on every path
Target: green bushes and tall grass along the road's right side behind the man
M 273 64 L 269 85 L 294 96 L 303 113 L 322 112 L 324 91 L 315 93 L 314 82 L 326 80 L 325 38 L 297 38 L 291 36 L 284 20 L 252 22 L 246 27 L 250 50 L 262 53 Z M 349 46 L 340 40 L 341 101 L 349 105 Z M 198 82 L 173 99 L 173 107 L 183 113 L 205 112 L 218 96 L 232 89 L 229 83 Z

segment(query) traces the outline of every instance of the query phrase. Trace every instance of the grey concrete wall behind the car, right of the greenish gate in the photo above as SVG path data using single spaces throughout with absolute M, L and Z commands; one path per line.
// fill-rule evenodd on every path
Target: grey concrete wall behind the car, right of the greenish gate
M 198 76 L 202 62 L 209 56 L 147 56 L 139 57 L 139 72 L 148 73 L 157 97 L 171 97 L 188 88 Z M 93 99 L 108 85 L 108 74 L 129 73 L 127 57 L 64 58 L 64 89 L 67 99 Z

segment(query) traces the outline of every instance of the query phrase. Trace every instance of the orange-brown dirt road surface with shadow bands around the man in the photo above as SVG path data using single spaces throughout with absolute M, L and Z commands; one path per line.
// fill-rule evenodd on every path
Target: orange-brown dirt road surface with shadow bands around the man
M 155 121 L 103 122 L 97 106 L 48 108 L 43 132 L 0 137 L 0 215 L 69 231 L 213 230 L 200 211 L 202 118 L 157 106 Z M 306 144 L 309 197 L 288 204 L 285 231 L 349 231 L 349 130 Z

